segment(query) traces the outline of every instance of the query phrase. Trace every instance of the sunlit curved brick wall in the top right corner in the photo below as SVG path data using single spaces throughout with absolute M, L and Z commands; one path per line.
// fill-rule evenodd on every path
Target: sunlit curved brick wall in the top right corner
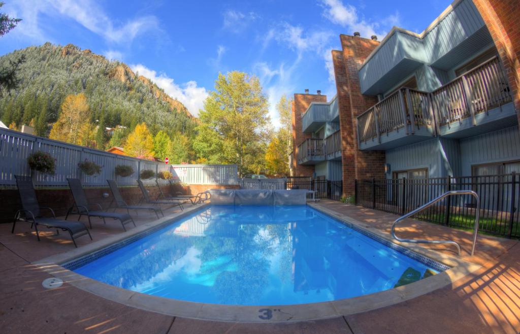
M 518 0 L 473 0 L 473 3 L 504 64 L 520 121 L 520 3 Z

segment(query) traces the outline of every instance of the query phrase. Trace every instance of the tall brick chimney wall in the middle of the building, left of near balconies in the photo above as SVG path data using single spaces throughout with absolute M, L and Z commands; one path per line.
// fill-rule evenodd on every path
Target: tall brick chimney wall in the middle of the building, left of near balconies
M 343 193 L 352 195 L 355 179 L 384 178 L 384 152 L 358 150 L 356 123 L 358 115 L 378 102 L 361 94 L 358 70 L 379 42 L 348 35 L 340 35 L 340 40 L 342 51 L 332 51 L 332 62 L 340 112 Z

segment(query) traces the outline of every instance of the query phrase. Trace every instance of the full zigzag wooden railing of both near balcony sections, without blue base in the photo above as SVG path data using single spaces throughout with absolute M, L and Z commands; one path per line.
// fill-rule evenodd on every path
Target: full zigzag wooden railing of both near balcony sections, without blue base
M 413 134 L 424 126 L 461 122 L 466 117 L 472 117 L 475 125 L 476 114 L 510 102 L 509 91 L 495 57 L 431 93 L 399 88 L 357 117 L 358 138 L 360 142 L 381 141 L 381 135 L 401 128 Z

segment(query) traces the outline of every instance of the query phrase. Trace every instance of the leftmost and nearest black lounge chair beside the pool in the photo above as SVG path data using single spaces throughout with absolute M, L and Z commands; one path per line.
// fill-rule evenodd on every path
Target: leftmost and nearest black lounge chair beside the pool
M 75 238 L 82 235 L 88 235 L 90 240 L 92 236 L 88 232 L 87 226 L 81 222 L 65 221 L 56 219 L 54 210 L 49 207 L 41 207 L 38 205 L 38 199 L 36 198 L 36 192 L 34 191 L 34 184 L 31 177 L 15 175 L 16 185 L 18 186 L 18 193 L 20 194 L 20 201 L 22 203 L 22 209 L 16 211 L 15 220 L 12 222 L 11 233 L 15 233 L 15 225 L 17 221 L 25 221 L 31 223 L 31 228 L 34 225 L 36 230 L 36 237 L 40 241 L 40 233 L 38 232 L 38 225 L 45 226 L 48 229 L 56 229 L 56 233 L 59 234 L 59 230 L 67 231 L 70 234 L 74 246 L 77 248 Z M 52 213 L 54 218 L 42 217 L 41 209 L 46 209 Z

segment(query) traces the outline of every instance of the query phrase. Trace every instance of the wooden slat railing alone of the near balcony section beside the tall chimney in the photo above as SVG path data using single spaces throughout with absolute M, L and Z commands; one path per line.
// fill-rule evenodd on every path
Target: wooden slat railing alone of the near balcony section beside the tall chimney
M 361 142 L 400 128 L 414 133 L 416 127 L 433 124 L 432 103 L 427 92 L 403 87 L 359 115 L 357 121 Z

